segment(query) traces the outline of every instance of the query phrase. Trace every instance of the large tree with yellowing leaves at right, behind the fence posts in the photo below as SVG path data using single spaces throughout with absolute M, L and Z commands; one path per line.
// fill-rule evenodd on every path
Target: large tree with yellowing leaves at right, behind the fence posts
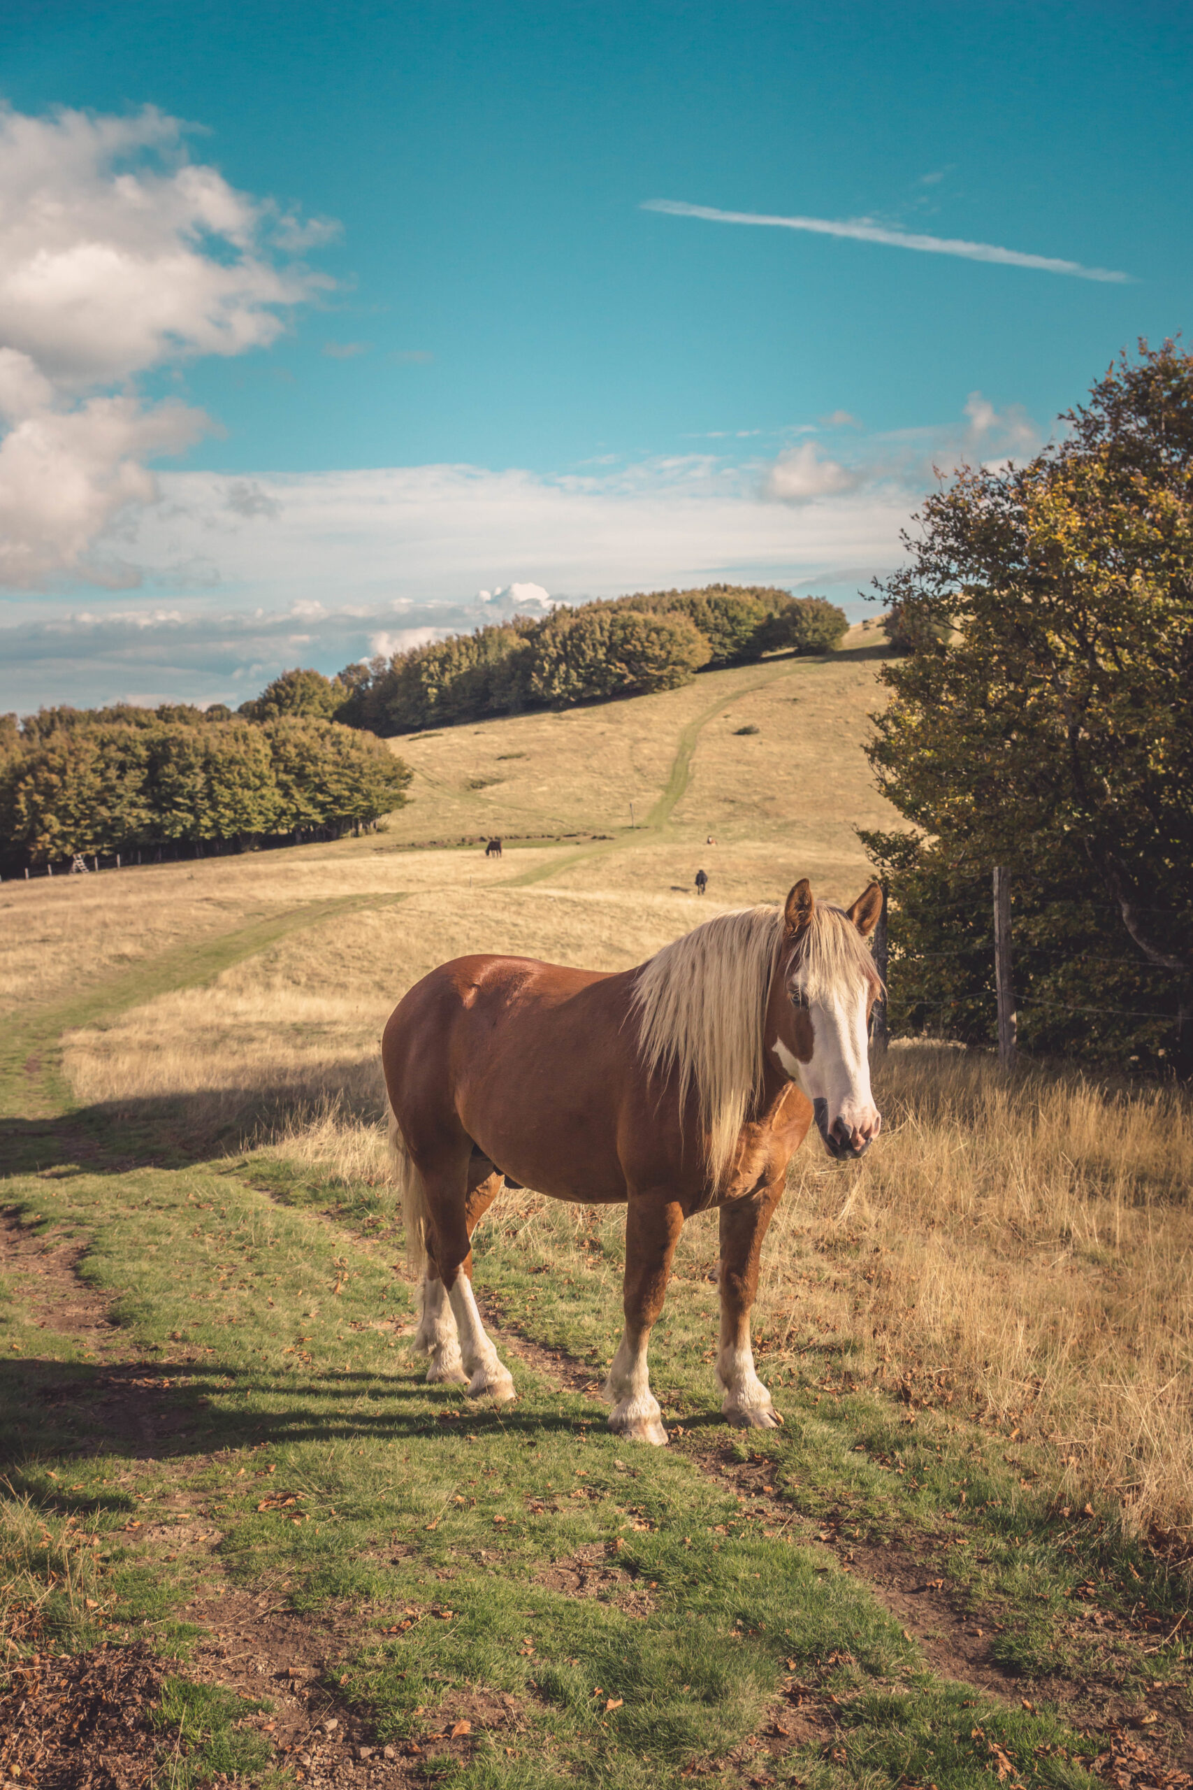
M 912 899 L 916 875 L 946 899 L 950 866 L 1003 863 L 1037 918 L 1080 908 L 1086 956 L 1100 934 L 1132 970 L 1123 1008 L 1175 995 L 1188 1063 L 1193 356 L 1141 344 L 1064 421 L 1028 465 L 966 467 L 932 494 L 909 564 L 878 585 L 909 653 L 884 668 L 869 755 L 923 838 L 914 863 L 871 843 L 903 852 Z M 1098 986 L 1089 963 L 1070 1004 Z

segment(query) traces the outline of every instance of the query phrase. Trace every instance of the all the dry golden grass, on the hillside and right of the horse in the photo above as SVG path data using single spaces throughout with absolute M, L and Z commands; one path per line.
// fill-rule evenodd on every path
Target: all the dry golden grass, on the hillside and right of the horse
M 758 669 L 769 680 L 744 695 Z M 381 1181 L 377 1035 L 435 963 L 504 950 L 622 968 L 717 906 L 778 897 L 805 872 L 821 893 L 859 893 L 866 866 L 846 822 L 884 813 L 851 743 L 873 666 L 715 677 L 640 703 L 415 741 L 419 804 L 383 838 L 5 886 L 14 1004 L 70 986 L 84 967 L 279 906 L 401 891 L 401 906 L 295 931 L 206 988 L 73 1033 L 66 1049 L 80 1099 L 157 1113 L 191 1149 L 256 1142 L 345 1181 Z M 402 836 L 613 831 L 628 789 L 635 809 L 660 800 L 681 730 L 706 711 L 692 782 L 665 825 L 501 863 L 395 850 Z M 748 721 L 760 732 L 737 736 Z M 542 759 L 533 768 L 508 752 Z M 503 786 L 461 791 L 465 768 L 483 775 L 490 759 L 517 771 L 508 806 L 490 806 Z M 689 893 L 698 863 L 714 875 L 705 902 Z M 766 1251 L 764 1360 L 821 1362 L 837 1382 L 901 1385 L 912 1402 L 968 1394 L 1052 1446 L 1073 1498 L 1113 1493 L 1132 1523 L 1193 1527 L 1188 1099 L 1052 1070 L 1007 1081 L 984 1054 L 925 1045 L 894 1047 L 876 1088 L 885 1128 L 864 1162 L 835 1167 L 816 1138 L 796 1156 Z M 542 1206 L 506 1198 L 528 1217 Z M 612 1235 L 621 1215 L 601 1223 Z M 714 1248 L 714 1224 L 689 1226 L 680 1274 L 703 1276 Z

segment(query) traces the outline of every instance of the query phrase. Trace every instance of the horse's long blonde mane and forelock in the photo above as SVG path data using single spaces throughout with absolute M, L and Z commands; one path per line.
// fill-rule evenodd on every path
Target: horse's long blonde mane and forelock
M 676 1074 L 680 1104 L 696 1087 L 712 1187 L 762 1092 L 762 1022 L 782 936 L 780 908 L 717 915 L 656 950 L 633 988 L 647 1074 Z M 876 979 L 860 933 L 832 902 L 817 902 L 801 933 L 800 972 L 812 1001 Z

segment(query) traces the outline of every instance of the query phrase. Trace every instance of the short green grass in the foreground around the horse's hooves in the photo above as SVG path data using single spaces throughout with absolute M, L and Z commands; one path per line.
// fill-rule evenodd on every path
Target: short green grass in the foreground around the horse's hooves
M 20 1300 L 5 1312 L 0 1414 L 14 1439 L 11 1509 L 27 1513 L 25 1586 L 55 1566 L 61 1582 L 72 1530 L 102 1543 L 79 1550 L 86 1579 L 73 1600 L 59 1588 L 43 1606 L 43 1640 L 80 1647 L 150 1634 L 186 1654 L 184 1606 L 207 1566 L 182 1552 L 166 1563 L 125 1527 L 134 1513 L 143 1525 L 168 1520 L 182 1495 L 188 1511 L 218 1520 L 216 1564 L 234 1584 L 267 1577 L 297 1611 L 351 1613 L 342 1692 L 368 1711 L 379 1740 L 442 1726 L 476 1686 L 515 1699 L 526 1727 L 513 1752 L 488 1745 L 453 1763 L 460 1785 L 678 1781 L 692 1760 L 715 1761 L 758 1735 L 792 1675 L 837 1699 L 844 1763 L 792 1754 L 776 1769 L 969 1785 L 986 1781 L 993 1740 L 1023 1770 L 1036 1767 L 1039 1783 L 1084 1781 L 1064 1756 L 1082 1743 L 1053 1715 L 937 1681 L 864 1582 L 816 1547 L 767 1539 L 681 1446 L 628 1448 L 588 1398 L 517 1362 L 519 1403 L 508 1412 L 426 1387 L 420 1364 L 372 1328 L 381 1314 L 408 1314 L 390 1266 L 395 1240 L 376 1237 L 376 1196 L 340 1198 L 326 1214 L 317 1185 L 293 1178 L 281 1203 L 252 1185 L 259 1172 L 249 1158 L 9 1187 L 23 1221 L 89 1237 L 89 1282 L 116 1298 L 143 1359 L 163 1362 L 170 1387 L 156 1396 L 184 1425 L 163 1461 L 136 1464 L 111 1446 L 88 1396 L 102 1368 L 47 1332 L 34 1366 Z M 535 1266 L 495 1226 L 478 1280 L 512 1308 L 520 1301 L 528 1332 L 599 1353 L 612 1319 L 603 1276 L 581 1271 L 590 1285 L 558 1291 L 528 1271 Z M 694 1346 L 710 1335 L 710 1312 L 706 1294 L 685 1291 L 680 1283 L 660 1326 L 656 1360 L 669 1409 L 692 1421 L 714 1409 Z M 29 1396 L 63 1384 L 77 1396 Z M 816 1396 L 807 1384 L 783 1391 L 783 1432 L 737 1439 L 712 1423 L 706 1434 L 771 1461 L 796 1511 L 823 1516 L 832 1504 L 846 1530 L 871 1536 L 935 1525 L 964 1464 L 973 1491 L 964 1527 L 982 1543 L 989 1577 L 975 1581 L 975 1595 L 1003 1600 L 1011 1634 L 1023 1600 L 1043 1590 L 1048 1607 L 1032 1611 L 1036 1627 L 1016 1645 L 1046 1649 L 1055 1640 L 1046 1616 L 1077 1566 L 1046 1532 L 1041 1502 L 1014 1496 L 1007 1471 L 978 1466 L 957 1439 L 907 1437 L 873 1400 L 823 1409 Z M 901 1473 L 880 1468 L 882 1453 Z M 996 1491 L 1005 1514 L 991 1511 Z M 30 1522 L 48 1547 L 32 1545 Z M 11 1579 L 14 1530 L 5 1534 Z M 590 1550 L 651 1588 L 649 1616 L 537 1584 L 551 1563 Z M 1089 1564 L 1082 1556 L 1080 1570 Z M 207 1720 L 197 1695 L 173 1690 L 163 1720 L 182 1722 L 186 1697 L 186 1722 Z M 606 1713 L 610 1699 L 619 1706 Z M 265 1770 L 267 1754 L 250 1756 L 249 1745 L 265 1742 L 213 1727 L 188 1756 L 188 1781 Z

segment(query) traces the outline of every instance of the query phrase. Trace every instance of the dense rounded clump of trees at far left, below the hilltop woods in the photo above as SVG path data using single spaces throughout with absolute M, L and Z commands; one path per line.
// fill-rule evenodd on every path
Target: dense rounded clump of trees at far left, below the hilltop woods
M 0 725 L 0 841 L 29 863 L 340 836 L 406 800 L 370 734 L 309 716 L 43 709 Z

